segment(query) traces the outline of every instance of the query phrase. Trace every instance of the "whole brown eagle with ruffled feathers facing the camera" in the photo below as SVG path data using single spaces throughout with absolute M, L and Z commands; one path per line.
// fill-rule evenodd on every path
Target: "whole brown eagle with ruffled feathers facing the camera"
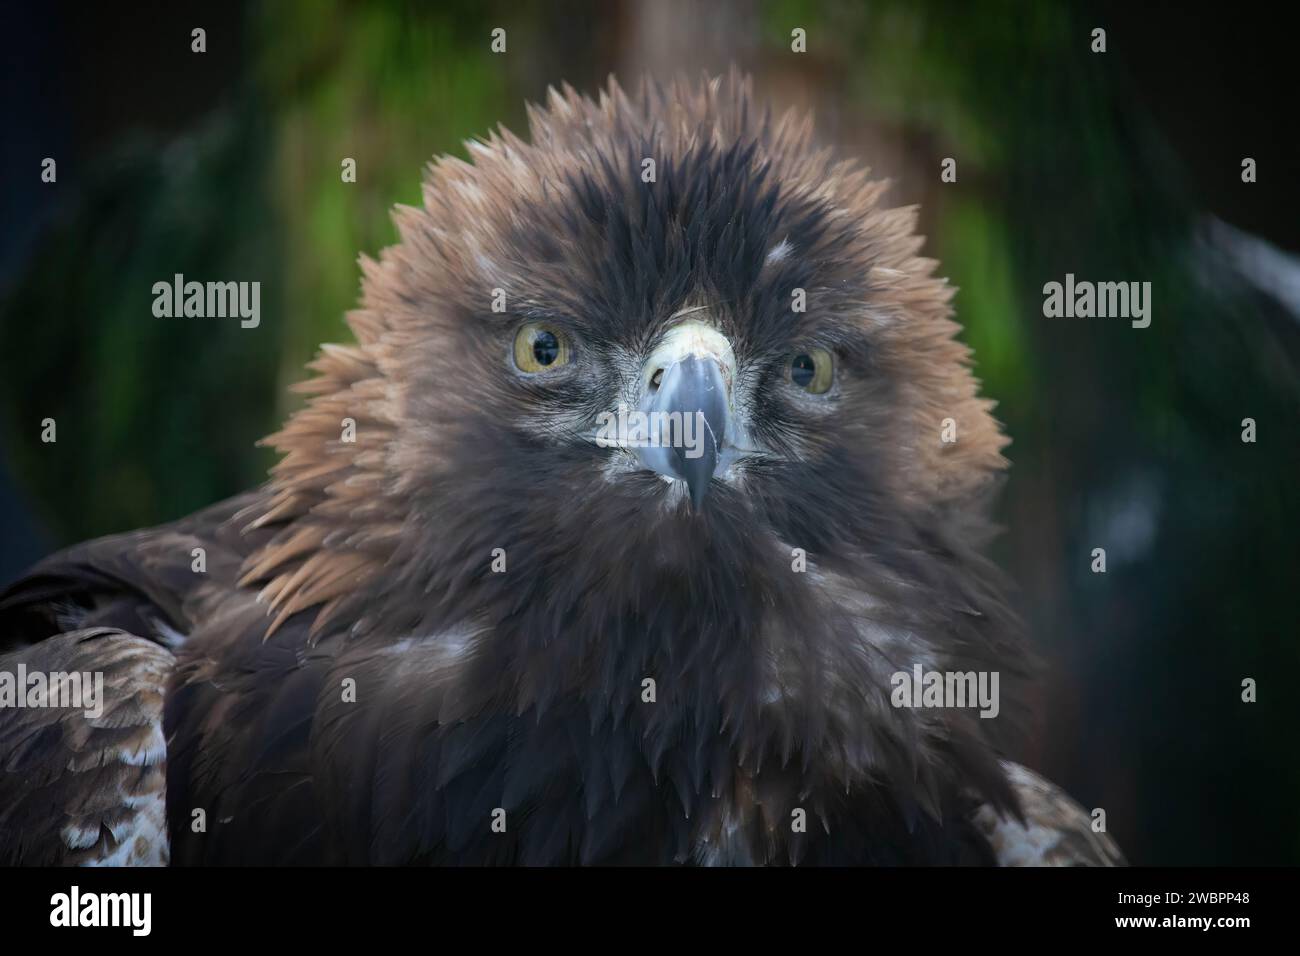
M 1117 862 L 1004 757 L 1005 440 L 913 211 L 734 73 L 530 134 L 398 211 L 265 486 L 0 597 L 0 671 L 105 675 L 0 710 L 0 861 Z M 998 717 L 894 706 L 918 665 Z

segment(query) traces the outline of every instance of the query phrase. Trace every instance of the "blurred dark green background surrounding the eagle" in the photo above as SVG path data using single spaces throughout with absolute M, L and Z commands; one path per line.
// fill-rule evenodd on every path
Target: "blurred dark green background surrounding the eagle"
M 547 85 L 736 62 L 890 177 L 894 204 L 919 204 L 927 251 L 959 286 L 1013 438 L 996 557 L 1050 666 L 1017 756 L 1105 808 L 1134 862 L 1296 864 L 1291 43 L 1262 14 L 1187 4 L 9 10 L 0 581 L 261 481 L 273 459 L 254 442 L 295 407 L 286 388 L 316 346 L 350 338 L 356 256 L 395 239 L 389 209 L 419 204 L 433 155 L 464 157 L 498 122 L 526 131 Z M 40 182 L 47 156 L 56 183 Z M 177 272 L 260 281 L 260 326 L 155 319 L 152 285 Z M 1150 328 L 1044 319 L 1043 285 L 1067 272 L 1150 281 Z M 1258 702 L 1243 704 L 1244 678 Z

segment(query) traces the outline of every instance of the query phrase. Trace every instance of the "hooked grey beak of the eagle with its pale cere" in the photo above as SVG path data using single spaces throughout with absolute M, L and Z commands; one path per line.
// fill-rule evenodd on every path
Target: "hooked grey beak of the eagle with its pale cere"
M 671 329 L 645 364 L 640 410 L 650 441 L 636 450 L 645 467 L 686 483 L 694 510 L 703 505 L 731 424 L 736 358 L 710 325 Z

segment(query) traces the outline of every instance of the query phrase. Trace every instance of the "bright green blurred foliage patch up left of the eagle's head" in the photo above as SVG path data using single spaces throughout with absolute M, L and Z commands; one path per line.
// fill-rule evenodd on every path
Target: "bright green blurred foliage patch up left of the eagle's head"
M 321 342 L 350 338 L 342 319 L 358 298 L 358 255 L 396 239 L 395 203 L 421 203 L 413 157 L 464 156 L 462 140 L 523 114 L 503 60 L 491 61 L 482 4 L 321 7 L 268 5 L 252 27 L 287 246 L 286 384 Z M 355 183 L 342 182 L 344 157 L 356 160 Z

